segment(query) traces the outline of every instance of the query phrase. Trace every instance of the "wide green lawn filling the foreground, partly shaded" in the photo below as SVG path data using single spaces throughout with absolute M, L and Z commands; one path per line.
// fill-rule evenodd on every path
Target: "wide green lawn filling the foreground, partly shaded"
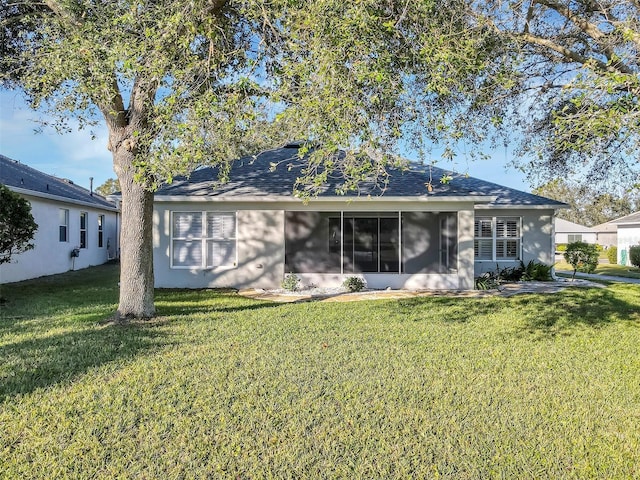
M 0 478 L 638 478 L 640 287 L 272 304 L 2 287 Z

